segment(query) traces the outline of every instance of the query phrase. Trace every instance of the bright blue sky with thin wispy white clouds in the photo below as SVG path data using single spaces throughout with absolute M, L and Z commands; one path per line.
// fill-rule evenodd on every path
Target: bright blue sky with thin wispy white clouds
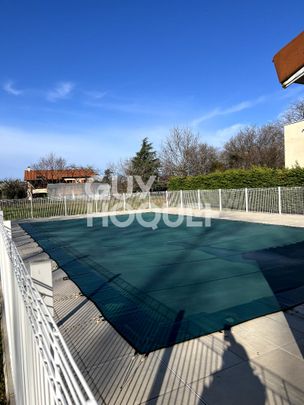
M 273 55 L 303 1 L 0 1 L 0 178 L 48 152 L 104 169 L 174 126 L 221 146 L 304 96 Z

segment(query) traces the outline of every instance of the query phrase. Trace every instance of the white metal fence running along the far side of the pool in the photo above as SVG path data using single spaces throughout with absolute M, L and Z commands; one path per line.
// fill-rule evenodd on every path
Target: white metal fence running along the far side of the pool
M 0 200 L 5 219 L 85 215 L 151 208 L 198 208 L 277 214 L 304 214 L 304 187 L 184 190 L 34 200 Z

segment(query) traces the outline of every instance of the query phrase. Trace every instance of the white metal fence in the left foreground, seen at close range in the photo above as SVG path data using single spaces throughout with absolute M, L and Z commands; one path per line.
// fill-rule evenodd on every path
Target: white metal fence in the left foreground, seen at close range
M 16 403 L 96 404 L 0 212 L 0 269 Z

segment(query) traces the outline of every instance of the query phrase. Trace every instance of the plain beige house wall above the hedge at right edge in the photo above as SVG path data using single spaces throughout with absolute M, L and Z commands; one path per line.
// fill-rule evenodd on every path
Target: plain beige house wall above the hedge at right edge
M 304 167 L 304 121 L 285 125 L 285 167 Z

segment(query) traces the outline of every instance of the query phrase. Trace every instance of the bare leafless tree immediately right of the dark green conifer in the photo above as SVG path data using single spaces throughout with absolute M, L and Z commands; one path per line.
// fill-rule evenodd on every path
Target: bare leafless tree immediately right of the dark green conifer
M 162 144 L 160 156 L 166 177 L 209 173 L 218 162 L 217 150 L 200 143 L 189 128 L 173 128 Z

